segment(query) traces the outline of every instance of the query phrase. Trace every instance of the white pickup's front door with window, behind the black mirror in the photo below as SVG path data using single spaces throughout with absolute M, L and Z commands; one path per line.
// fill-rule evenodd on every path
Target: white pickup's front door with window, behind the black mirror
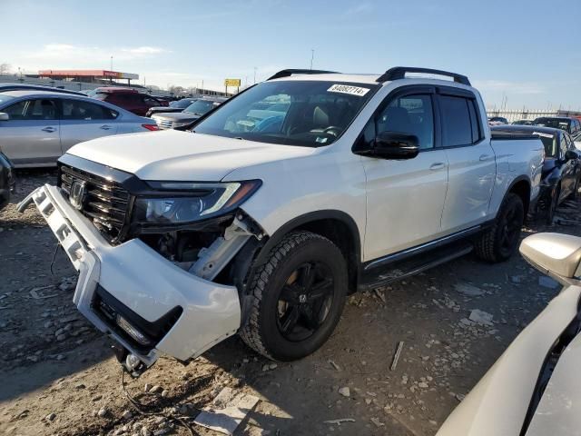
M 407 160 L 361 157 L 367 175 L 365 260 L 426 243 L 441 232 L 448 158 L 437 146 L 433 107 L 431 88 L 409 88 L 389 95 L 365 128 L 366 142 L 381 132 L 400 132 L 418 136 L 420 148 Z

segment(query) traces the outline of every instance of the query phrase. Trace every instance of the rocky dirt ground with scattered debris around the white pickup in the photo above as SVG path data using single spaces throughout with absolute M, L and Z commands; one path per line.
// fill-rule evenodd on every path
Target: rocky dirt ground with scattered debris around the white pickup
M 51 172 L 18 176 L 14 201 L 54 183 Z M 549 230 L 581 234 L 578 210 L 562 205 Z M 112 342 L 74 307 L 64 253 L 51 272 L 54 251 L 34 208 L 0 213 L 0 434 L 214 436 L 188 423 L 228 386 L 260 398 L 235 434 L 432 435 L 559 290 L 520 256 L 490 265 L 468 255 L 353 294 L 330 341 L 300 362 L 273 364 L 232 337 L 187 366 L 162 358 L 139 379 L 125 376 L 123 390 Z M 473 309 L 493 325 L 470 322 Z

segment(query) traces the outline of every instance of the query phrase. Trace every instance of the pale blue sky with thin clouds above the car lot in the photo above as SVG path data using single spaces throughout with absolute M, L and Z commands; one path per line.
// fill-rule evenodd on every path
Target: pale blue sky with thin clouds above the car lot
M 488 108 L 581 109 L 581 1 L 0 0 L 0 64 L 223 89 L 284 68 L 468 75 Z

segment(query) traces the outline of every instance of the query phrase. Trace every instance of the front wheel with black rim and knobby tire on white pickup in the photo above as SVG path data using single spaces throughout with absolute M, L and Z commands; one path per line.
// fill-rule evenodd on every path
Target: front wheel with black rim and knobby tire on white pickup
M 316 233 L 289 233 L 250 278 L 241 338 L 271 360 L 308 356 L 335 329 L 347 289 L 347 264 L 337 245 Z

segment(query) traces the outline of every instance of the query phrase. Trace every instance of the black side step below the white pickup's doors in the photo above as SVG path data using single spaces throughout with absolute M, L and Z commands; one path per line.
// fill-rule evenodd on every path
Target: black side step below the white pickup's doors
M 391 282 L 397 282 L 411 275 L 419 274 L 447 263 L 453 259 L 470 253 L 474 249 L 471 243 L 452 243 L 444 247 L 421 253 L 409 259 L 390 263 L 381 268 L 364 273 L 359 282 L 359 291 L 369 291 L 379 286 L 385 286 Z

